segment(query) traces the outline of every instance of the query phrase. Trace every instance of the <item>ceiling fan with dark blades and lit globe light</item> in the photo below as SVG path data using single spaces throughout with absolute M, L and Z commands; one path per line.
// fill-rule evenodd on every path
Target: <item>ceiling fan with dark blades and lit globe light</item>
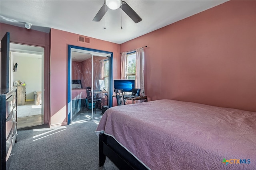
M 121 8 L 135 23 L 142 21 L 140 16 L 125 2 L 122 0 L 105 0 L 103 6 L 94 17 L 93 21 L 100 21 L 108 9 L 116 10 Z

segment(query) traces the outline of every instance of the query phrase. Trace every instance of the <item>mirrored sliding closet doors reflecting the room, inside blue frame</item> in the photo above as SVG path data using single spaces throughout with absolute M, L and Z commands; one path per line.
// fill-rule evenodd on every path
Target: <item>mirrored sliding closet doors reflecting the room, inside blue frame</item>
M 109 59 L 81 51 L 71 57 L 72 122 L 101 117 L 109 103 Z

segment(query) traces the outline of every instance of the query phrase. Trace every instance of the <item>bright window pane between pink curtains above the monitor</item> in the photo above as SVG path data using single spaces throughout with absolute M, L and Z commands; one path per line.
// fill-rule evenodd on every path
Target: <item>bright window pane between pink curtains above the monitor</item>
M 135 51 L 127 54 L 127 79 L 135 80 L 136 77 L 136 53 Z

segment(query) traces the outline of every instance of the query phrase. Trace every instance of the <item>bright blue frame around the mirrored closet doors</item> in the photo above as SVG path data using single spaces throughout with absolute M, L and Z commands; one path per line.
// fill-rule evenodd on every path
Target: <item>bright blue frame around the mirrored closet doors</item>
M 75 46 L 75 45 L 68 45 L 68 101 L 67 101 L 67 106 L 68 106 L 68 125 L 72 122 L 72 116 L 71 116 L 71 107 L 72 107 L 72 98 L 71 98 L 71 82 L 72 82 L 72 73 L 71 73 L 71 66 L 72 66 L 72 56 L 71 56 L 71 51 L 72 49 L 79 49 L 79 50 L 85 50 L 85 51 L 91 51 L 96 52 L 96 53 L 104 53 L 106 55 L 109 55 L 109 89 L 113 89 L 113 84 L 112 84 L 112 80 L 113 80 L 113 52 L 109 52 L 109 51 L 102 51 L 102 50 L 97 50 L 97 49 L 90 49 L 90 48 L 86 48 L 86 47 L 79 47 L 79 46 Z M 112 98 L 110 96 L 112 96 L 112 90 L 108 90 L 108 100 L 109 100 L 109 107 L 112 106 Z

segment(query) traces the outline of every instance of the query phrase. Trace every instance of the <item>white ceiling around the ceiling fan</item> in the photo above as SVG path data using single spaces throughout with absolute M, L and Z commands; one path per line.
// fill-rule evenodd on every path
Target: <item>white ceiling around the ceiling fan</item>
M 48 32 L 50 28 L 102 39 L 113 43 L 124 43 L 176 21 L 182 20 L 226 0 L 125 0 L 142 18 L 134 23 L 121 9 L 106 12 L 100 22 L 92 19 L 104 4 L 104 0 L 1 0 L 1 23 Z M 12 19 L 12 20 L 9 20 Z M 8 21 L 9 20 L 9 21 Z

